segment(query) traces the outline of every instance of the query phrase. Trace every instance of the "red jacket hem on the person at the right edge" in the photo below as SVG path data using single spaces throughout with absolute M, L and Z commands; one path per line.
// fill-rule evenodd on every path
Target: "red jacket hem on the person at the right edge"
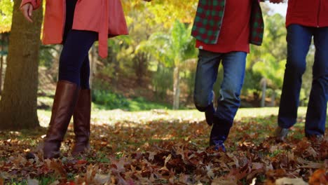
M 286 27 L 291 24 L 328 27 L 328 0 L 289 0 Z

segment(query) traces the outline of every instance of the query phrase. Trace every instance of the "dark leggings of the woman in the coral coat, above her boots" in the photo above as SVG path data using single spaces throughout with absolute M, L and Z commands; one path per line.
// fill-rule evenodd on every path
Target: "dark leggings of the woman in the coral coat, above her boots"
M 82 89 L 88 89 L 90 88 L 88 51 L 97 40 L 97 32 L 71 29 L 76 1 L 66 1 L 66 20 L 58 78 L 60 81 L 70 81 L 81 86 Z

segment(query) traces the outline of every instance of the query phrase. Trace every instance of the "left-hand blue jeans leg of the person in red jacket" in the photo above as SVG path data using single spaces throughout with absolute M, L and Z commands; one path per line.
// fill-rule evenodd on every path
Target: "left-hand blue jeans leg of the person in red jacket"
M 302 76 L 306 70 L 306 55 L 312 35 L 310 27 L 287 27 L 287 64 L 278 114 L 278 125 L 281 128 L 290 128 L 296 123 Z

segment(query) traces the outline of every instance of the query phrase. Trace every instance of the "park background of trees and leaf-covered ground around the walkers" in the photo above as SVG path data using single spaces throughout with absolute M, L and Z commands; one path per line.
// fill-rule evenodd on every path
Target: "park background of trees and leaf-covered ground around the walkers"
M 251 46 L 242 108 L 226 143 L 228 153 L 217 154 L 207 151 L 210 128 L 193 105 L 198 50 L 190 33 L 197 1 L 122 3 L 130 34 L 109 39 L 107 58 L 97 55 L 97 43 L 89 55 L 93 153 L 77 163 L 67 162 L 74 143 L 70 127 L 62 147 L 64 158 L 47 162 L 34 156 L 27 158 L 36 164 L 31 166 L 25 153 L 41 155 L 38 146 L 50 120 L 62 46 L 41 45 L 42 8 L 34 12 L 31 24 L 22 17 L 19 0 L 0 1 L 0 129 L 9 130 L 0 131 L 0 184 L 101 184 L 105 180 L 114 184 L 250 184 L 254 179 L 257 184 L 270 184 L 281 177 L 297 183 L 327 178 L 327 142 L 315 147 L 303 138 L 313 45 L 291 137 L 287 144 L 276 144 L 270 137 L 287 57 L 286 5 L 261 4 L 264 43 Z M 220 67 L 216 95 L 222 74 Z M 217 155 L 220 159 L 213 162 Z M 149 162 L 140 163 L 140 158 Z M 145 168 L 148 171 L 138 171 Z

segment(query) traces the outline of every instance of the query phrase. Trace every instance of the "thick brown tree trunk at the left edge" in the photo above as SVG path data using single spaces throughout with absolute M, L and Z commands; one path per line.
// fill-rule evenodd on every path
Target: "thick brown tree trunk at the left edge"
M 42 8 L 33 12 L 33 23 L 14 0 L 4 91 L 0 101 L 0 130 L 39 127 L 36 114 Z

